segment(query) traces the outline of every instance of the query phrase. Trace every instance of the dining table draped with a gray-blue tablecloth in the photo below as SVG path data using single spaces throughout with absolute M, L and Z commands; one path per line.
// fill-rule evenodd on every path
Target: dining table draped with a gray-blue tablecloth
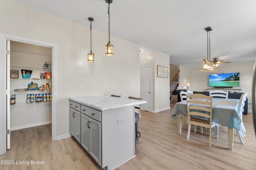
M 212 121 L 228 127 L 228 149 L 234 147 L 234 128 L 240 130 L 242 119 L 238 113 L 239 99 L 213 98 L 212 100 Z M 182 116 L 188 115 L 187 101 L 175 104 L 172 111 L 174 120 L 178 119 L 178 133 L 181 134 L 183 120 Z

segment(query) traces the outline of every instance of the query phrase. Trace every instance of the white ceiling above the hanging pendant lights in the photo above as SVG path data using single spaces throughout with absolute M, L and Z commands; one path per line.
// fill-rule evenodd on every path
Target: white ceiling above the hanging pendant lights
M 105 0 L 14 0 L 108 33 Z M 232 63 L 256 58 L 256 0 L 113 0 L 110 34 L 170 55 L 170 64 L 196 67 L 207 58 Z M 110 40 L 111 40 L 110 35 Z M 106 41 L 107 42 L 107 41 Z M 111 41 L 114 45 L 114 42 Z

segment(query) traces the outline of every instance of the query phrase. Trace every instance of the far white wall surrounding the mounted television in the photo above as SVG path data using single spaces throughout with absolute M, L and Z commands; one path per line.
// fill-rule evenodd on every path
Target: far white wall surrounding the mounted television
M 220 74 L 239 72 L 240 73 L 240 87 L 233 89 L 242 89 L 242 92 L 248 92 L 248 102 L 252 102 L 252 73 L 254 61 L 242 63 L 226 63 L 220 65 L 218 72 L 203 72 L 196 68 L 186 68 L 180 66 L 180 89 L 186 88 L 185 82 L 189 82 L 189 90 L 192 91 L 207 91 L 209 88 L 209 74 Z

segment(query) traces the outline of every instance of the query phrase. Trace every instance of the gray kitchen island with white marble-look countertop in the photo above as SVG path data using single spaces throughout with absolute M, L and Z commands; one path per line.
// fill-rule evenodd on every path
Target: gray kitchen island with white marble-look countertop
M 134 105 L 146 101 L 111 96 L 70 97 L 70 133 L 104 169 L 135 155 Z

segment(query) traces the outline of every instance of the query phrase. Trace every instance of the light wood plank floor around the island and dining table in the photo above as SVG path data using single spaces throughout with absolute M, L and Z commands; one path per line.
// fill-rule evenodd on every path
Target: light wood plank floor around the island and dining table
M 234 132 L 234 150 L 228 150 L 228 128 L 224 126 L 219 128 L 219 139 L 212 138 L 212 147 L 208 146 L 207 129 L 203 134 L 191 131 L 188 140 L 185 124 L 179 135 L 177 120 L 171 117 L 173 107 L 171 104 L 171 109 L 158 113 L 141 111 L 138 123 L 142 135 L 137 141 L 136 157 L 117 170 L 256 170 L 251 113 L 243 116 L 247 130 L 245 145 L 239 143 Z M 52 141 L 51 131 L 51 124 L 11 131 L 11 149 L 0 160 L 14 160 L 15 164 L 1 164 L 0 170 L 101 169 L 73 137 Z M 44 164 L 16 164 L 16 160 L 39 160 Z

